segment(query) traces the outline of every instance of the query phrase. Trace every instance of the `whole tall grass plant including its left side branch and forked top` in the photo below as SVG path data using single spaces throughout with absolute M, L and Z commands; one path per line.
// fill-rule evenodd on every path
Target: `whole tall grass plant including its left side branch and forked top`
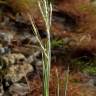
M 38 6 L 42 13 L 43 20 L 45 22 L 46 32 L 47 32 L 47 42 L 43 44 L 38 30 L 32 20 L 30 14 L 28 17 L 32 24 L 32 28 L 34 30 L 34 34 L 38 43 L 42 49 L 42 63 L 43 63 L 43 96 L 49 96 L 49 79 L 50 79 L 50 67 L 51 67 L 51 37 L 50 37 L 50 27 L 51 27 L 51 19 L 52 19 L 52 5 L 48 2 L 48 0 L 40 0 L 38 2 Z

